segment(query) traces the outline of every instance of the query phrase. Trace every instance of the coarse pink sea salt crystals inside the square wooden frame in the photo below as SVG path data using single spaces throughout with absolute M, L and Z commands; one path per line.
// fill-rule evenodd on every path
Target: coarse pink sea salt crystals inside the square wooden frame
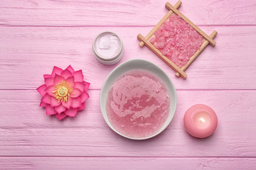
M 156 30 L 149 42 L 181 68 L 200 49 L 203 36 L 181 16 L 173 14 Z

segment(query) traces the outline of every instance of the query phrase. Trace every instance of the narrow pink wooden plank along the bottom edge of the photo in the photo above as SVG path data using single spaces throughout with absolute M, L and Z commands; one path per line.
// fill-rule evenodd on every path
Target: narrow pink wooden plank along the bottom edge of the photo
M 138 167 L 139 165 L 139 167 Z M 144 158 L 144 157 L 1 157 L 0 169 L 197 169 L 254 170 L 255 158 Z

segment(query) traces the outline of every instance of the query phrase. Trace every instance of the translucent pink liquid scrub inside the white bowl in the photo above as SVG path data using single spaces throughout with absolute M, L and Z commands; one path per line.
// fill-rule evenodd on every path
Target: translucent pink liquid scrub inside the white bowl
M 164 125 L 170 98 L 154 74 L 135 69 L 114 82 L 107 97 L 107 116 L 113 128 L 127 137 L 149 137 Z

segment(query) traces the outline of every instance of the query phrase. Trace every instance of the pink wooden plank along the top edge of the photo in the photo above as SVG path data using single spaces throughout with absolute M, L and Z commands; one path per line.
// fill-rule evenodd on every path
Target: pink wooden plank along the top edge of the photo
M 175 4 L 177 0 L 170 0 Z M 2 26 L 152 26 L 167 10 L 166 0 L 1 0 Z M 255 0 L 184 1 L 180 11 L 196 25 L 256 25 Z M 223 8 L 225 6 L 225 8 Z M 195 9 L 195 10 L 193 10 Z M 150 15 L 149 15 L 150 14 Z M 136 19 L 134 19 L 136 18 Z

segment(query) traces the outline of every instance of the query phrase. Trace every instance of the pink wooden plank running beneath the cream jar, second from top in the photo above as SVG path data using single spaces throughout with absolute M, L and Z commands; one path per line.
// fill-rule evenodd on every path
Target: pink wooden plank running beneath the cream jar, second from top
M 50 74 L 54 65 L 65 68 L 69 64 L 82 69 L 91 89 L 100 89 L 107 74 L 118 65 L 102 65 L 93 56 L 92 40 L 103 30 L 112 30 L 122 37 L 121 62 L 133 58 L 154 62 L 169 74 L 177 89 L 256 89 L 252 81 L 256 79 L 255 26 L 218 27 L 215 40 L 219 45 L 207 47 L 186 69 L 186 83 L 176 78 L 174 71 L 149 49 L 137 45 L 137 34 L 146 29 L 0 27 L 0 89 L 36 89 L 43 84 L 43 74 Z M 213 30 L 211 26 L 202 29 L 206 33 Z M 250 74 L 240 76 L 245 68 Z

